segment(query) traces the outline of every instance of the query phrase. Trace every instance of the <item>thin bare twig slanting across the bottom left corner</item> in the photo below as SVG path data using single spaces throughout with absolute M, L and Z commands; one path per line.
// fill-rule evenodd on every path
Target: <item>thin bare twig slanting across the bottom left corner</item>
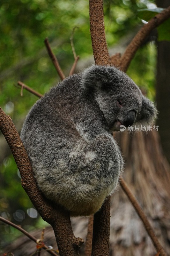
M 16 224 L 12 223 L 12 222 L 9 221 L 9 220 L 4 219 L 4 218 L 1 217 L 1 216 L 0 216 L 0 220 L 3 221 L 3 222 L 6 223 L 6 224 L 8 224 L 8 225 L 10 225 L 10 226 L 12 226 L 12 227 L 18 229 L 18 230 L 21 231 L 24 235 L 26 235 L 27 237 L 29 237 L 32 241 L 34 241 L 34 242 L 37 244 L 37 239 L 36 239 L 34 236 L 32 236 L 31 234 L 29 234 L 25 229 L 23 229 L 23 228 L 21 228 L 20 226 L 18 226 L 18 225 L 16 225 Z M 55 252 L 51 251 L 51 250 L 48 248 L 48 246 L 44 245 L 42 248 L 45 249 L 45 250 L 47 250 L 47 252 L 48 252 L 49 254 L 58 256 Z

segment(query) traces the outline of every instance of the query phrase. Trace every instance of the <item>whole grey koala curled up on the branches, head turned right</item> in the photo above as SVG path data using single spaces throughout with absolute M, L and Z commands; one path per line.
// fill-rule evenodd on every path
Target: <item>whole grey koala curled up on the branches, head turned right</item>
M 33 105 L 21 130 L 39 189 L 71 216 L 94 214 L 123 168 L 112 133 L 156 116 L 118 68 L 92 65 L 64 79 Z

